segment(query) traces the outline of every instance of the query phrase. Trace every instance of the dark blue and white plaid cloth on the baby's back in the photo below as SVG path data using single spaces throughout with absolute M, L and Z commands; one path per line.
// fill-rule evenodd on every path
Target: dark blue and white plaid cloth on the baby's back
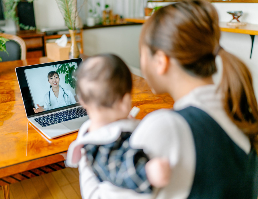
M 89 163 L 98 179 L 132 189 L 138 193 L 151 193 L 145 165 L 149 161 L 142 149 L 132 149 L 132 133 L 122 132 L 120 137 L 107 145 L 84 145 Z

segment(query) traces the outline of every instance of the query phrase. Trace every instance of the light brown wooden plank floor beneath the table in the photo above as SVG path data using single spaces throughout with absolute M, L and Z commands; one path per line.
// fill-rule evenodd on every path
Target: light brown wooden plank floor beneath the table
M 3 199 L 0 191 L 0 199 Z M 80 199 L 79 172 L 65 168 L 10 185 L 10 199 Z

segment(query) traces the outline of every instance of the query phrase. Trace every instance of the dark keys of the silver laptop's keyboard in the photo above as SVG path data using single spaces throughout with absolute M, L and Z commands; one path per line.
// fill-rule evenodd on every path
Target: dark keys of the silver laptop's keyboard
M 86 116 L 87 111 L 83 107 L 78 107 L 58 113 L 54 113 L 47 116 L 42 116 L 39 118 L 34 119 L 36 122 L 38 122 L 42 127 L 50 126 L 53 124 L 66 122 L 68 120 L 73 120 L 76 118 L 81 118 L 83 116 Z

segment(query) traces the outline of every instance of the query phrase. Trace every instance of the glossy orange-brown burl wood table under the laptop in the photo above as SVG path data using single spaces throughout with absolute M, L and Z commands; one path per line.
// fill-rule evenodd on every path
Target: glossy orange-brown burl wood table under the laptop
M 9 184 L 64 168 L 67 149 L 78 132 L 46 138 L 26 117 L 15 68 L 52 62 L 47 57 L 0 63 L 0 186 L 5 198 Z M 132 106 L 140 108 L 136 118 L 160 109 L 172 108 L 168 94 L 154 95 L 142 77 L 132 74 Z M 40 82 L 35 82 L 40 87 Z

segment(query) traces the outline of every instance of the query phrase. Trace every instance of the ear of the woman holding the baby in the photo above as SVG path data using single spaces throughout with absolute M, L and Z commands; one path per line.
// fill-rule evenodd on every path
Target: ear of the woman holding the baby
M 154 56 L 157 74 L 165 74 L 169 68 L 169 57 L 162 50 L 157 50 Z

